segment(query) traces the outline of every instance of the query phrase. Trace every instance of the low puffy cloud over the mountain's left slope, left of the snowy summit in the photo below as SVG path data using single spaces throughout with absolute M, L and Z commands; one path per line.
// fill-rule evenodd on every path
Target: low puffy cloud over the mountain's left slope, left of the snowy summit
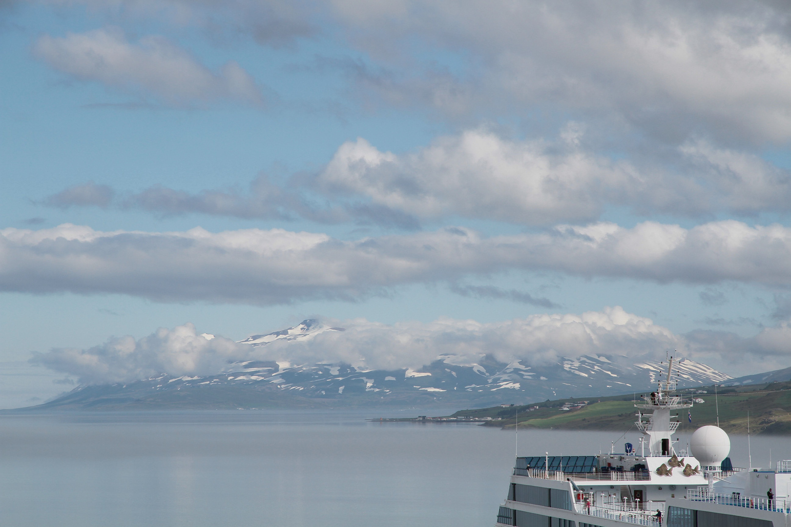
M 244 357 L 247 346 L 224 337 L 206 340 L 187 322 L 160 328 L 148 337 L 112 337 L 89 349 L 54 348 L 36 353 L 33 363 L 79 378 L 84 384 L 131 382 L 162 373 L 213 375 Z

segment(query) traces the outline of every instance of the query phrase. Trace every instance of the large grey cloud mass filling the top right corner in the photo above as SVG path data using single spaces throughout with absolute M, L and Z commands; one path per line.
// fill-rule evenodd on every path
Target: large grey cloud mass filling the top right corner
M 358 84 L 389 104 L 446 115 L 571 112 L 679 142 L 695 132 L 791 137 L 791 40 L 778 22 L 789 9 L 779 2 L 334 6 L 353 45 L 389 72 Z

